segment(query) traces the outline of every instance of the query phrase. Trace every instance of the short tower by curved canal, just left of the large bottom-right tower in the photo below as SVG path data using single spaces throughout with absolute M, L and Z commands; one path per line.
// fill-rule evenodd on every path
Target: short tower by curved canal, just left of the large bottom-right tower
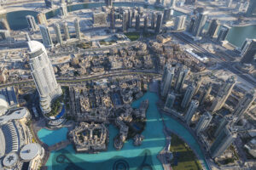
M 198 135 L 199 133 L 201 133 L 202 131 L 204 131 L 210 124 L 210 122 L 212 121 L 212 115 L 210 112 L 205 112 L 199 122 L 197 122 L 196 126 L 195 126 L 195 133 L 196 135 Z

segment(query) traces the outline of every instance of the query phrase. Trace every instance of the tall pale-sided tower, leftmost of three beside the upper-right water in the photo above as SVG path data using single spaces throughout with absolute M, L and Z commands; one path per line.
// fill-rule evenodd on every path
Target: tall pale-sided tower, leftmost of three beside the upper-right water
M 207 12 L 200 12 L 197 15 L 197 19 L 195 20 L 195 26 L 193 27 L 193 35 L 195 37 L 200 37 L 201 32 L 206 25 L 207 21 Z

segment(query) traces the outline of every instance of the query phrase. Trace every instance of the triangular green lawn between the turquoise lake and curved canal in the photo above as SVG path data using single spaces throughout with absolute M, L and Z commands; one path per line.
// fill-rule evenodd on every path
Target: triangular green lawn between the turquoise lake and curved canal
M 193 150 L 189 148 L 182 139 L 176 134 L 172 134 L 171 151 L 173 153 L 172 169 L 173 170 L 198 170 L 202 169 L 200 161 L 195 156 Z M 179 153 L 179 156 L 175 154 Z M 177 166 L 173 165 L 174 160 L 177 157 Z

